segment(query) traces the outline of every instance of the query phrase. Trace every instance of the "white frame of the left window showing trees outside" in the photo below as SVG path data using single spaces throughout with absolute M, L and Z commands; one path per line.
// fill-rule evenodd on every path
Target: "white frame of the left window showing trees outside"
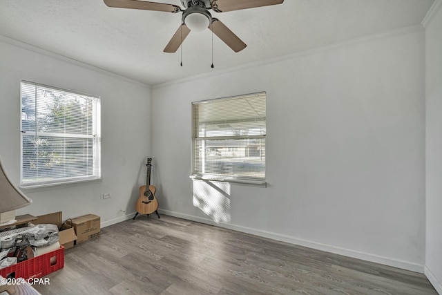
M 79 133 L 62 133 L 62 132 L 41 132 L 37 131 L 37 126 L 35 126 L 35 131 L 24 131 L 23 130 L 23 84 L 32 85 L 35 87 L 47 88 L 52 91 L 62 92 L 67 95 L 78 95 L 80 97 L 88 97 L 91 99 L 91 104 L 93 109 L 91 113 L 93 113 L 93 123 L 92 123 L 92 134 L 79 134 Z M 37 105 L 37 97 L 32 97 L 35 99 L 35 104 Z M 35 108 L 35 114 L 37 116 L 37 106 Z M 73 184 L 73 183 L 81 183 L 81 182 L 96 182 L 102 180 L 102 156 L 101 156 L 101 142 L 102 142 L 102 134 L 101 134 L 101 98 L 97 95 L 90 95 L 87 93 L 81 93 L 79 91 L 70 91 L 64 88 L 57 88 L 55 86 L 48 86 L 44 84 L 39 84 L 36 82 L 30 82 L 26 80 L 21 80 L 20 82 L 20 184 L 19 187 L 21 189 L 35 189 L 40 187 L 50 187 L 50 186 L 59 186 L 64 184 Z M 33 134 L 36 138 L 39 136 L 50 137 L 50 138 L 62 138 L 65 140 L 72 139 L 85 139 L 92 140 L 93 142 L 93 161 L 92 161 L 92 171 L 90 175 L 79 175 L 79 176 L 70 176 L 65 178 L 51 178 L 50 180 L 43 180 L 43 178 L 37 178 L 33 181 L 26 181 L 24 178 L 23 170 L 25 167 L 23 166 L 23 151 L 24 151 L 24 137 L 26 137 L 26 133 Z

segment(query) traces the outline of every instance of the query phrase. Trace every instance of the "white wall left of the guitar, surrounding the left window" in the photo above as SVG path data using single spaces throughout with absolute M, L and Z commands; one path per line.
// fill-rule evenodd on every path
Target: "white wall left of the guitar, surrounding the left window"
M 137 188 L 146 177 L 143 161 L 151 153 L 151 121 L 146 115 L 151 89 L 4 37 L 0 39 L 0 53 L 0 156 L 17 186 L 21 79 L 102 99 L 102 181 L 23 191 L 33 203 L 18 213 L 63 211 L 64 218 L 95 213 L 102 217 L 103 225 L 132 214 Z M 103 193 L 111 193 L 112 198 L 103 200 Z

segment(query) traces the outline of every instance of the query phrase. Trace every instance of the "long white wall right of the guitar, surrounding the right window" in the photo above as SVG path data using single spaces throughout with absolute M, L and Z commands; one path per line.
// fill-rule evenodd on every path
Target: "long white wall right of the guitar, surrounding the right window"
M 233 185 L 222 226 L 423 272 L 424 38 L 407 28 L 154 87 L 160 208 L 211 222 L 192 204 L 191 102 L 267 91 L 268 187 Z

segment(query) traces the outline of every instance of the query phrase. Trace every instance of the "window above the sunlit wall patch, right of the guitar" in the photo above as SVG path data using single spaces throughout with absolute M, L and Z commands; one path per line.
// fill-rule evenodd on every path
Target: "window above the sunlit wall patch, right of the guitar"
M 193 103 L 193 178 L 265 184 L 266 94 Z

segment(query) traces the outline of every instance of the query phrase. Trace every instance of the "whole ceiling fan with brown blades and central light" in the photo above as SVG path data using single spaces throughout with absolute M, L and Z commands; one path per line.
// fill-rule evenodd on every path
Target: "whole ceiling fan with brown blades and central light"
M 165 53 L 175 53 L 191 30 L 202 31 L 209 28 L 227 46 L 238 53 L 246 48 L 246 44 L 238 38 L 219 19 L 215 19 L 209 10 L 228 12 L 260 6 L 281 4 L 284 0 L 181 0 L 180 6 L 139 0 L 104 0 L 108 7 L 155 10 L 162 12 L 182 12 L 182 25 L 164 48 Z

